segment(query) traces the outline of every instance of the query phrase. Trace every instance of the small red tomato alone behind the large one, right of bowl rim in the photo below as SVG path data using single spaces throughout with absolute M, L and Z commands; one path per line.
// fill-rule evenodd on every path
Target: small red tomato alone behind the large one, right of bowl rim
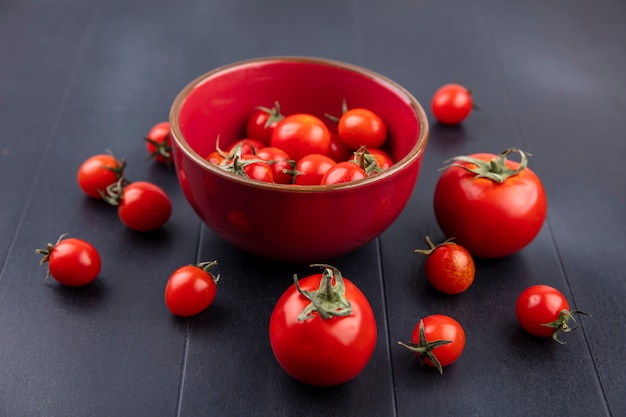
M 456 125 L 469 116 L 474 102 L 472 93 L 460 84 L 446 84 L 433 95 L 431 108 L 443 124 Z

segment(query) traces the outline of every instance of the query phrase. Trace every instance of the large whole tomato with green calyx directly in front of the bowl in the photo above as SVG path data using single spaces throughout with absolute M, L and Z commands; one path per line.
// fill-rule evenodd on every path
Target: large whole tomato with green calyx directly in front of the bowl
M 339 385 L 356 377 L 370 360 L 376 320 L 365 295 L 336 268 L 312 266 L 324 272 L 294 277 L 294 285 L 276 303 L 270 344 L 280 366 L 296 380 Z

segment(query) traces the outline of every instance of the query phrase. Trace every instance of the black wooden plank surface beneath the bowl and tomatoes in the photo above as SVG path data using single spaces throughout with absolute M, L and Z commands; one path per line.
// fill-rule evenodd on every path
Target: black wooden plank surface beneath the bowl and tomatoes
M 0 415 L 626 415 L 625 22 L 622 0 L 1 0 Z M 456 128 L 431 117 L 406 210 L 332 261 L 369 297 L 379 326 L 366 369 L 332 389 L 288 377 L 267 337 L 273 304 L 309 269 L 225 244 L 197 220 L 173 170 L 144 160 L 143 136 L 185 84 L 268 55 L 370 68 L 425 108 L 438 86 L 462 81 L 480 106 Z M 548 220 L 522 252 L 477 261 L 467 293 L 439 295 L 413 253 L 425 235 L 443 238 L 437 169 L 511 146 L 533 154 Z M 170 194 L 162 230 L 133 233 L 80 192 L 78 165 L 106 149 L 127 159 L 129 178 Z M 65 232 L 99 249 L 92 285 L 44 280 L 34 249 Z M 173 317 L 169 273 L 212 259 L 222 275 L 215 303 Z M 593 314 L 566 345 L 517 325 L 516 297 L 537 283 Z M 443 376 L 396 345 L 432 313 L 467 332 Z

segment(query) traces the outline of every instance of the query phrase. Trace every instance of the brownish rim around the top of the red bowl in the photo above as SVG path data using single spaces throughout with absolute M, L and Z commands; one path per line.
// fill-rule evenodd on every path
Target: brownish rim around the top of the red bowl
M 260 64 L 260 63 L 272 63 L 272 62 L 302 62 L 308 64 L 319 64 L 326 65 L 330 67 L 337 67 L 343 70 L 354 72 L 360 76 L 374 79 L 377 82 L 386 85 L 388 88 L 396 90 L 396 93 L 399 95 L 405 96 L 406 100 L 410 103 L 411 108 L 415 112 L 418 123 L 420 126 L 420 134 L 419 137 L 413 146 L 413 148 L 405 155 L 404 158 L 393 164 L 391 167 L 385 169 L 384 171 L 368 176 L 366 178 L 344 182 L 339 184 L 328 184 L 328 185 L 296 185 L 296 184 L 276 184 L 276 183 L 268 183 L 263 181 L 255 181 L 249 178 L 245 178 L 239 175 L 233 175 L 223 169 L 218 168 L 211 162 L 204 159 L 199 153 L 191 148 L 187 140 L 184 138 L 180 126 L 178 124 L 178 119 L 180 115 L 180 111 L 185 103 L 187 96 L 200 84 L 205 82 L 211 77 L 224 72 L 232 70 L 236 67 L 240 66 L 248 66 L 251 64 Z M 335 60 L 329 58 L 317 58 L 310 56 L 298 56 L 298 55 L 286 55 L 286 56 L 267 56 L 267 57 L 258 57 L 240 60 L 236 62 L 232 62 L 230 64 L 222 65 L 216 67 L 204 74 L 196 77 L 190 83 L 188 83 L 176 96 L 174 102 L 172 103 L 170 114 L 169 114 L 169 122 L 170 122 L 170 136 L 172 142 L 176 142 L 180 150 L 187 155 L 196 165 L 201 168 L 210 171 L 220 177 L 223 177 L 227 180 L 240 183 L 250 187 L 262 188 L 262 189 L 271 189 L 274 191 L 283 191 L 283 192 L 296 192 L 296 193 L 310 193 L 310 192 L 320 192 L 320 191 L 336 191 L 336 190 L 344 190 L 344 189 L 352 189 L 365 186 L 366 184 L 381 182 L 384 179 L 391 177 L 393 175 L 401 172 L 405 167 L 411 165 L 415 160 L 419 159 L 419 157 L 424 153 L 426 149 L 426 144 L 428 143 L 429 137 L 429 125 L 428 118 L 426 116 L 426 112 L 422 105 L 417 101 L 417 99 L 404 87 L 402 87 L 397 82 L 391 80 L 390 78 L 381 75 L 375 71 L 372 71 L 367 68 L 363 68 L 361 66 Z

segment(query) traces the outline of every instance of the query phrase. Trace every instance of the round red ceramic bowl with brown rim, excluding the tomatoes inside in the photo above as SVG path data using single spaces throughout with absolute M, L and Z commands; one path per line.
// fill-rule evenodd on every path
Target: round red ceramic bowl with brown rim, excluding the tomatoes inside
M 376 112 L 396 162 L 380 174 L 329 186 L 268 184 L 234 176 L 204 157 L 245 134 L 257 106 L 285 115 L 341 112 L 341 102 Z M 380 235 L 406 205 L 428 141 L 426 114 L 395 82 L 354 65 L 305 57 L 259 58 L 210 71 L 187 85 L 170 112 L 174 164 L 202 221 L 258 256 L 322 262 Z M 329 126 L 332 122 L 328 120 Z

